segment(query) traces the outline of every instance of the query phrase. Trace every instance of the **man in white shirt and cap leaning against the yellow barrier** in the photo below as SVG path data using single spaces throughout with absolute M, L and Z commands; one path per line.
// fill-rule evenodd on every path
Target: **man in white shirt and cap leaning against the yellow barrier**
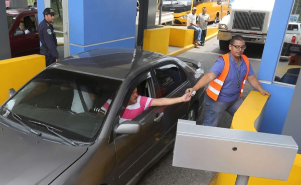
M 189 13 L 188 17 L 187 17 L 187 28 L 188 29 L 194 29 L 195 30 L 195 34 L 194 34 L 194 42 L 201 45 L 201 33 L 202 33 L 202 29 L 198 26 L 197 24 L 197 8 L 193 7 L 192 8 L 192 12 Z

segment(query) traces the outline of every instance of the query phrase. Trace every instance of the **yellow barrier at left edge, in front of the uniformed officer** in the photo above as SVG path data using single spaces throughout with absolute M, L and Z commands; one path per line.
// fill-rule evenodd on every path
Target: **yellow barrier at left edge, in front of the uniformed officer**
M 0 104 L 8 99 L 10 88 L 18 90 L 45 67 L 45 56 L 40 54 L 0 60 Z

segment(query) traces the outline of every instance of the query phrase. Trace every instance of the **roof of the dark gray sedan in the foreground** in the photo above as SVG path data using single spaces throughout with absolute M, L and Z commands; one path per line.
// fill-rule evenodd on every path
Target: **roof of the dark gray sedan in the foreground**
M 55 64 L 60 68 L 92 75 L 123 80 L 131 71 L 140 66 L 147 67 L 166 55 L 134 48 L 99 48 L 81 52 Z

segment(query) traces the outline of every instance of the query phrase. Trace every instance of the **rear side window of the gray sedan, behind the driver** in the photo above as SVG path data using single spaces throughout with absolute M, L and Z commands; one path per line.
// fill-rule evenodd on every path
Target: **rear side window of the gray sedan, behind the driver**
M 161 97 L 166 97 L 182 83 L 187 81 L 185 73 L 175 64 L 168 64 L 155 69 Z

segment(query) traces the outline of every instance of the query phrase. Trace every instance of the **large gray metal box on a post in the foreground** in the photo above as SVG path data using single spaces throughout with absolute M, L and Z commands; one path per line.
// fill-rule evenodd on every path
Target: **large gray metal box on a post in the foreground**
M 173 165 L 287 180 L 297 150 L 291 136 L 179 119 Z

